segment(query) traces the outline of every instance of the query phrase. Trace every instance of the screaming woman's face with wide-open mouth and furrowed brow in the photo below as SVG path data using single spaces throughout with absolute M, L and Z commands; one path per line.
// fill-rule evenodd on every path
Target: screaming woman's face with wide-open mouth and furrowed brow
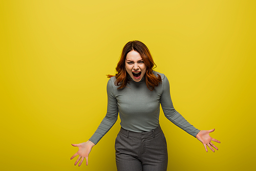
M 146 66 L 138 52 L 131 51 L 127 53 L 125 58 L 125 69 L 134 81 L 139 82 L 143 78 L 146 72 Z

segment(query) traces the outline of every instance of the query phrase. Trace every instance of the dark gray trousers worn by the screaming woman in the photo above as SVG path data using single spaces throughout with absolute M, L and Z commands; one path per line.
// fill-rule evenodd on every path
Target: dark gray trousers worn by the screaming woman
M 115 149 L 118 171 L 167 170 L 167 145 L 160 126 L 145 133 L 131 132 L 121 127 Z

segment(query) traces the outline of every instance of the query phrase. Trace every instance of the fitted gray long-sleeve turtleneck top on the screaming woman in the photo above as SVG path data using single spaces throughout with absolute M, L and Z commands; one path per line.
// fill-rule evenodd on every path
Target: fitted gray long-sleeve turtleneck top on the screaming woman
M 99 140 L 115 124 L 118 112 L 121 120 L 121 127 L 133 132 L 148 132 L 159 126 L 160 103 L 165 117 L 179 126 L 188 134 L 196 137 L 200 130 L 188 123 L 173 106 L 170 98 L 169 81 L 164 74 L 153 72 L 156 76 L 161 75 L 162 83 L 153 91 L 148 90 L 144 77 L 134 81 L 130 76 L 130 83 L 126 87 L 117 90 L 115 77 L 108 81 L 108 109 L 106 116 L 101 121 L 98 129 L 89 139 L 97 144 Z

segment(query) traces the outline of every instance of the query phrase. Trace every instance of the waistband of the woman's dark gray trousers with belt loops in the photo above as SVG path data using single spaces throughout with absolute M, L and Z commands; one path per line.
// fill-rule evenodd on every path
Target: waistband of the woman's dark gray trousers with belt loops
M 135 137 L 135 138 L 150 138 L 155 137 L 156 134 L 160 133 L 162 131 L 161 127 L 158 126 L 156 129 L 150 131 L 150 132 L 143 132 L 143 133 L 137 133 L 129 130 L 124 130 L 122 127 L 120 129 L 120 132 L 128 137 Z

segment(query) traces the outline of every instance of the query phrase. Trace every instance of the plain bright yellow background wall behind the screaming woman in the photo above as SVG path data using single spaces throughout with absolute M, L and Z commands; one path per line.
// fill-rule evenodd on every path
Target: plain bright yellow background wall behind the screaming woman
M 0 3 L 1 170 L 116 170 L 120 120 L 78 168 L 71 143 L 106 113 L 106 74 L 140 40 L 176 110 L 219 151 L 160 113 L 168 170 L 255 169 L 255 1 L 5 1 Z

